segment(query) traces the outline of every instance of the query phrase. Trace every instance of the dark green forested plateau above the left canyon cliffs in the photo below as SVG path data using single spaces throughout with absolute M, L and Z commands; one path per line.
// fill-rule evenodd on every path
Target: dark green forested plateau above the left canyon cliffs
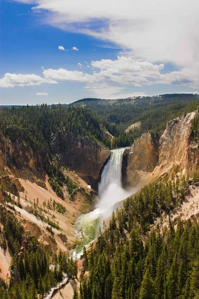
M 103 144 L 99 117 L 90 109 L 65 105 L 23 106 L 0 110 L 0 131 L 11 141 L 23 139 L 34 146 L 49 146 L 52 134 L 66 129 Z

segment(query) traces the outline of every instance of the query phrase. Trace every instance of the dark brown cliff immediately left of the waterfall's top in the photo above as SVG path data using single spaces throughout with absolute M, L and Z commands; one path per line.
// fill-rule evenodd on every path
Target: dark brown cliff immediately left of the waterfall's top
M 97 189 L 102 169 L 110 157 L 110 150 L 85 136 L 60 131 L 52 141 L 52 152 L 60 164 L 69 167 L 92 188 Z

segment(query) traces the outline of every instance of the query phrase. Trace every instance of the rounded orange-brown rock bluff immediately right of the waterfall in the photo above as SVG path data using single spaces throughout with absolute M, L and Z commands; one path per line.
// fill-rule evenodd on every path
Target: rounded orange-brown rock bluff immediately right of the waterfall
M 152 172 L 159 158 L 159 136 L 151 131 L 128 149 L 125 149 L 122 162 L 123 184 L 136 186 L 140 180 L 140 171 Z

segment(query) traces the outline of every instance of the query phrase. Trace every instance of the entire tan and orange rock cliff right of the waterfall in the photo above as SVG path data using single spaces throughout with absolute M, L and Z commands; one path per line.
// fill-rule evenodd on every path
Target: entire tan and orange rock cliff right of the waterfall
M 123 157 L 123 184 L 135 186 L 147 183 L 167 173 L 193 174 L 199 165 L 199 145 L 190 143 L 190 131 L 195 112 L 167 123 L 158 141 L 151 132 L 145 133 L 126 149 Z

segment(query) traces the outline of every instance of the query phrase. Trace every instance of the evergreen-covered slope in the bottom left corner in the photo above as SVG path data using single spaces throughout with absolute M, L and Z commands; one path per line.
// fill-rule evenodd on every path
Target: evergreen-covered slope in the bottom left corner
M 0 231 L 0 246 L 4 250 L 8 247 L 13 253 L 11 277 L 9 281 L 0 279 L 1 299 L 35 299 L 37 294 L 42 298 L 51 286 L 62 279 L 62 272 L 67 272 L 69 278 L 76 277 L 76 261 L 61 251 L 58 256 L 55 252 L 52 259 L 51 250 L 38 242 L 33 235 L 25 234 L 14 214 L 2 205 L 0 224 L 3 226 Z M 53 267 L 50 269 L 52 261 Z

